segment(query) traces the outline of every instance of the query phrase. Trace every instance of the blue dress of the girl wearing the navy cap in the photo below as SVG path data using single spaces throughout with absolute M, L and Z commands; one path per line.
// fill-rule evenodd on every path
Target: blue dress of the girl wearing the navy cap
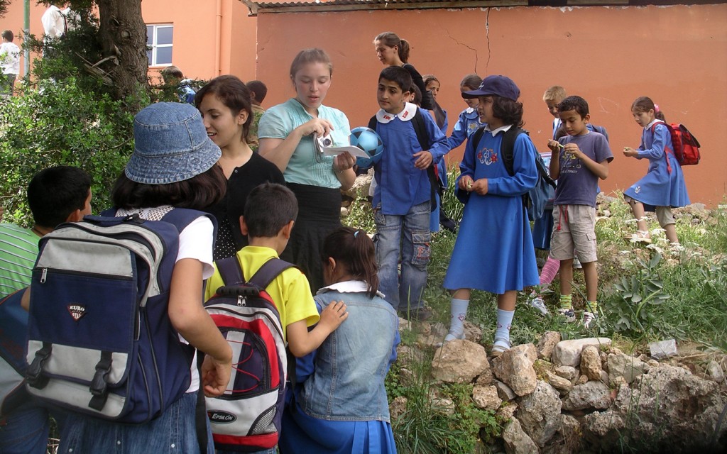
M 494 137 L 486 129 L 476 146 L 467 142 L 459 166 L 462 176 L 475 181 L 487 178 L 488 193 L 469 192 L 444 288 L 502 294 L 539 283 L 530 223 L 521 198 L 537 182 L 537 151 L 530 138 L 520 134 L 513 152 L 515 175 L 510 177 L 500 153 L 502 134 L 509 127 L 495 129 Z M 467 192 L 457 193 L 460 197 Z

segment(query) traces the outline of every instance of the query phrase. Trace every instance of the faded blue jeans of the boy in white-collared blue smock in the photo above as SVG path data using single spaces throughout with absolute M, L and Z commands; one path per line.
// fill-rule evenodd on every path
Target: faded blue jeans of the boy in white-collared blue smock
M 406 311 L 424 306 L 430 256 L 430 202 L 409 208 L 401 215 L 374 210 L 376 222 L 376 261 L 379 264 L 379 291 L 394 309 Z M 401 245 L 401 246 L 400 246 Z M 401 251 L 401 277 L 398 273 Z

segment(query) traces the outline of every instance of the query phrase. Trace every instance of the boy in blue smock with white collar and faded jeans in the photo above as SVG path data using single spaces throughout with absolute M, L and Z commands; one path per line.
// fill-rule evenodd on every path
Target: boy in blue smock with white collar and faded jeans
M 429 113 L 417 112 L 416 105 L 406 102 L 411 94 L 409 87 L 411 76 L 403 68 L 390 66 L 379 75 L 377 100 L 381 110 L 376 114 L 376 131 L 384 152 L 374 165 L 376 259 L 379 290 L 386 301 L 407 319 L 426 320 L 431 312 L 424 307 L 422 296 L 427 285 L 432 207 L 427 168 L 440 161 L 449 147 Z M 415 124 L 423 124 L 428 150 L 419 145 L 417 129 L 422 129 Z

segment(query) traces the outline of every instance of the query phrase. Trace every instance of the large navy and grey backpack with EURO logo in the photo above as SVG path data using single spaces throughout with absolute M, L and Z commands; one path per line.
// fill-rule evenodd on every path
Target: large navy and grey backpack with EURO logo
M 179 234 L 203 215 L 174 208 L 161 221 L 86 216 L 41 238 L 28 392 L 124 423 L 149 421 L 182 397 L 193 349 L 169 320 L 169 287 Z

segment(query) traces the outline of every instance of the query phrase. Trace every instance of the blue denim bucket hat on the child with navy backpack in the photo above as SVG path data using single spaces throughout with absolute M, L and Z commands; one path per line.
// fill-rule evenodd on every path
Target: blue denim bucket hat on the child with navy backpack
M 134 118 L 134 153 L 124 173 L 137 183 L 167 185 L 204 173 L 221 155 L 196 108 L 156 102 Z

